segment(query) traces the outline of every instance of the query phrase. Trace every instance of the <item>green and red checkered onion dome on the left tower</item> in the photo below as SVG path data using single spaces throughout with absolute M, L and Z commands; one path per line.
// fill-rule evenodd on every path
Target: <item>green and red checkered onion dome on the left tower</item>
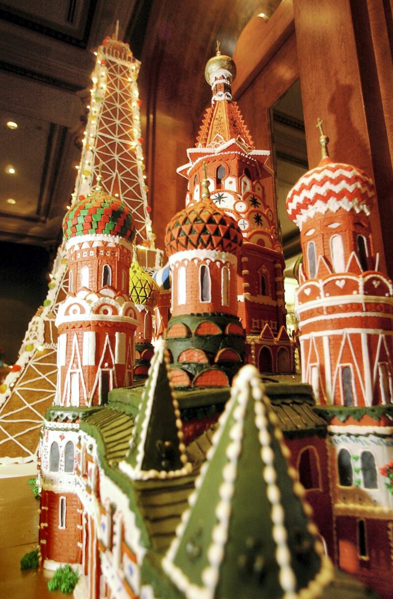
M 113 235 L 132 241 L 135 236 L 130 208 L 103 189 L 94 190 L 69 208 L 63 232 L 65 240 L 80 235 Z

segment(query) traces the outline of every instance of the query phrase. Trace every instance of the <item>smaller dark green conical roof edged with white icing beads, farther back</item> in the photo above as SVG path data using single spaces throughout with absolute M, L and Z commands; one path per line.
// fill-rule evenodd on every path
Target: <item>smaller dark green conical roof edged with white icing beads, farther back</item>
M 121 466 L 132 479 L 166 479 L 191 471 L 170 376 L 167 346 L 159 339 L 138 407 L 131 446 Z

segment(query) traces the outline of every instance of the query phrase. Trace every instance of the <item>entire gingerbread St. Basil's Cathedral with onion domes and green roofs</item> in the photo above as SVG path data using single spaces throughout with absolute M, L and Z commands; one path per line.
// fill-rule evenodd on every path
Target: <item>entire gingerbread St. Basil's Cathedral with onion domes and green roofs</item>
M 108 62 L 129 52 L 107 46 Z M 90 599 L 375 597 L 332 562 L 388 598 L 393 299 L 373 254 L 373 184 L 325 151 L 289 194 L 304 254 L 298 383 L 269 153 L 232 101 L 232 60 L 217 52 L 205 74 L 213 101 L 165 236 L 170 314 L 121 193 L 98 176 L 66 213 L 40 561 L 78 568 L 75 597 Z

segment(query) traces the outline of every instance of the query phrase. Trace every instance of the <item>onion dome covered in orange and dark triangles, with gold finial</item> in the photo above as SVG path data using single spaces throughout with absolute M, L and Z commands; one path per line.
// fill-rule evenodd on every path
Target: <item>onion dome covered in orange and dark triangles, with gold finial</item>
M 211 201 L 206 175 L 202 181 L 201 201 L 175 214 L 165 234 L 168 256 L 195 249 L 240 256 L 242 243 L 243 235 L 237 222 Z

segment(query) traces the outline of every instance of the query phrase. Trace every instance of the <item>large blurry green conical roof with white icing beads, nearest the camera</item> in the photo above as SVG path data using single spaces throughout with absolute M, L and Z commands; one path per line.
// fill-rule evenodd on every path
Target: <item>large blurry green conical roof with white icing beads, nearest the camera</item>
M 288 453 L 259 373 L 247 365 L 162 561 L 188 599 L 294 599 L 302 589 L 309 599 L 330 582 Z

